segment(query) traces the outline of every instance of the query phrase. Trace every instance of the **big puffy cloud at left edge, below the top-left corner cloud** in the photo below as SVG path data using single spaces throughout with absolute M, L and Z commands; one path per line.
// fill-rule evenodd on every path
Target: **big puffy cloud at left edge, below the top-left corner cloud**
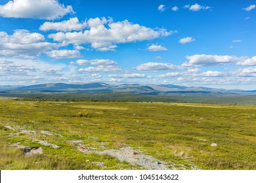
M 60 44 L 46 42 L 39 33 L 18 29 L 12 35 L 0 32 L 0 56 L 33 56 L 60 47 Z

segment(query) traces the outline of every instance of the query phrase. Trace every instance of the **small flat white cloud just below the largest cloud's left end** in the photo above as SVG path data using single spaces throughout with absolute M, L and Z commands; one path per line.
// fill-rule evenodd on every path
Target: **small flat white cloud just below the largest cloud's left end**
M 51 52 L 47 52 L 47 55 L 51 58 L 79 58 L 81 54 L 77 50 L 53 50 Z

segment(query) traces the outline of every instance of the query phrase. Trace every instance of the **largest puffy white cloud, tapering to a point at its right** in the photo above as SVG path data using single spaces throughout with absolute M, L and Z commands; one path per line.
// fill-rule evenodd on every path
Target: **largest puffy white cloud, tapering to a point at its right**
M 167 37 L 173 33 L 166 29 L 152 29 L 133 24 L 128 20 L 113 22 L 112 19 L 90 18 L 87 25 L 85 31 L 58 32 L 50 34 L 49 38 L 69 44 L 91 44 L 96 50 L 108 51 L 114 50 L 116 44 L 152 40 Z

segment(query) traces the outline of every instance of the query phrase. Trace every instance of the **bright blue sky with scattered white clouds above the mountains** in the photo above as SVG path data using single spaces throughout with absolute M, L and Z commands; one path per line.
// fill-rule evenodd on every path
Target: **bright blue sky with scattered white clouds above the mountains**
M 256 0 L 1 0 L 0 85 L 256 90 Z

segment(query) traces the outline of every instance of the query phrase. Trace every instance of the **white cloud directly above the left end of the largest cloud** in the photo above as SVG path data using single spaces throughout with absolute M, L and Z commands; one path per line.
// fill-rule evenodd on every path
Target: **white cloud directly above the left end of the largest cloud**
M 87 26 L 87 22 L 80 23 L 78 18 L 70 18 L 70 20 L 65 20 L 62 22 L 45 22 L 39 27 L 41 31 L 80 31 Z

